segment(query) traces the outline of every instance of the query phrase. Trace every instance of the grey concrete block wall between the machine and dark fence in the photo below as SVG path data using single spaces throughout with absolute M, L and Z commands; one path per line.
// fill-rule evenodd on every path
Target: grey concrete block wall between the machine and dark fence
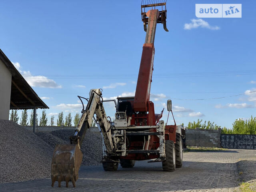
M 187 129 L 186 144 L 189 146 L 220 147 L 221 129 Z

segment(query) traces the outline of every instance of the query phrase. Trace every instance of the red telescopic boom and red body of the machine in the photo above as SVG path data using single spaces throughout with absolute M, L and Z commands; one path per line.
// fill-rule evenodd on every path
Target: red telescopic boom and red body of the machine
M 162 16 L 162 14 L 160 14 L 160 12 L 157 9 L 152 9 L 146 13 L 146 16 L 148 18 L 144 17 L 144 20 L 148 22 L 148 28 L 146 30 L 147 33 L 145 43 L 142 48 L 140 70 L 138 74 L 135 96 L 127 98 L 118 98 L 118 106 L 126 104 L 127 102 L 130 103 L 130 107 L 126 106 L 125 110 L 124 108 L 123 110 L 120 110 L 120 108 L 122 107 L 118 107 L 118 111 L 125 111 L 127 113 L 127 118 L 131 118 L 130 126 L 156 126 L 163 114 L 163 110 L 160 114 L 155 114 L 154 103 L 150 101 L 150 88 L 152 82 L 152 72 L 155 53 L 154 38 L 156 33 L 156 24 L 160 20 L 160 16 Z M 156 132 L 156 128 L 150 128 L 150 132 Z M 158 147 L 160 146 L 159 137 L 157 135 L 152 134 L 149 136 L 149 138 L 150 139 L 148 139 L 148 141 L 145 142 L 145 138 L 143 136 L 128 136 L 128 150 L 145 150 L 145 145 L 148 146 L 147 150 L 158 149 Z M 174 142 L 176 141 L 176 124 L 165 126 L 164 138 L 165 140 L 172 140 Z M 149 160 L 159 158 L 159 154 L 154 154 L 152 152 L 134 152 L 132 154 L 128 154 L 127 156 L 120 158 L 130 160 Z

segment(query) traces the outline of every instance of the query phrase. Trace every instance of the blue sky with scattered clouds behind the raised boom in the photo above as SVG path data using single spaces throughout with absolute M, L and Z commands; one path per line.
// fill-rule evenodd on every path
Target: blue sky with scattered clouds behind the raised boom
M 172 99 L 178 124 L 200 118 L 231 128 L 256 116 L 256 93 L 245 94 L 256 90 L 256 2 L 215 0 L 242 3 L 242 18 L 202 20 L 196 3 L 212 1 L 167 2 L 169 32 L 158 24 L 151 100 L 158 113 Z M 2 1 L 0 21 L 0 48 L 50 107 L 48 120 L 80 112 L 76 96 L 91 88 L 103 88 L 104 98 L 134 94 L 146 34 L 140 0 Z M 113 106 L 106 112 L 114 116 Z

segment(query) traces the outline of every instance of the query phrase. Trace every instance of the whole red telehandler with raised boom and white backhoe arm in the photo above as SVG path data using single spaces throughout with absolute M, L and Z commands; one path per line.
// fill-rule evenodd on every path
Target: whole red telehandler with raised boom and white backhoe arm
M 150 1 L 152 2 L 152 1 Z M 166 0 L 148 4 L 142 0 L 141 14 L 146 31 L 146 39 L 142 49 L 140 70 L 134 97 L 118 97 L 112 100 L 116 105 L 115 120 L 111 122 L 106 116 L 101 89 L 92 89 L 88 104 L 82 109 L 82 116 L 74 135 L 70 136 L 70 144 L 56 146 L 52 158 L 52 186 L 58 181 L 71 181 L 73 186 L 78 179 L 78 170 L 82 162 L 80 147 L 86 130 L 92 123 L 94 114 L 98 127 L 102 132 L 102 165 L 105 171 L 116 171 L 118 164 L 123 168 L 131 168 L 137 160 L 162 162 L 164 171 L 174 171 L 182 166 L 182 134 L 181 128 L 165 125 L 163 111 L 156 114 L 154 103 L 150 101 L 154 62 L 154 38 L 156 24 L 162 23 L 166 28 Z M 158 10 L 156 8 L 162 8 Z M 149 9 L 147 12 L 146 10 Z M 82 97 L 78 96 L 82 101 Z M 83 102 L 82 102 L 83 103 Z M 84 106 L 84 104 L 83 104 Z M 167 110 L 172 112 L 172 101 L 167 101 Z M 168 114 L 169 116 L 169 114 Z M 172 114 L 173 116 L 173 114 Z

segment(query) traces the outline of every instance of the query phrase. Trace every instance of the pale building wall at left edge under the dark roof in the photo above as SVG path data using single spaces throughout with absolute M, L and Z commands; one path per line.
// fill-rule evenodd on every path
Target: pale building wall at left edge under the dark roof
M 9 119 L 12 74 L 0 60 L 0 119 Z

